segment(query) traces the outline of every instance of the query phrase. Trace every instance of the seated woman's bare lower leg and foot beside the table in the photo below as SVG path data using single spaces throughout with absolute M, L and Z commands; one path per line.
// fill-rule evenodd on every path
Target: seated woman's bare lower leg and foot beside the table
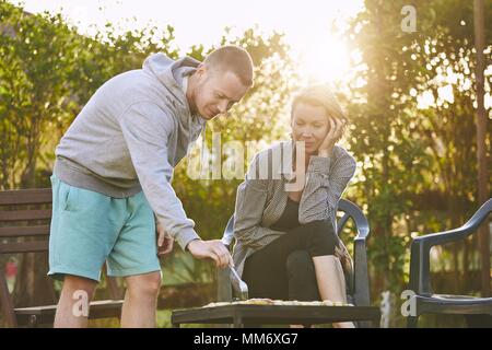
M 313 257 L 321 300 L 347 303 L 345 278 L 340 260 L 335 255 Z M 337 328 L 354 328 L 352 322 L 333 324 Z

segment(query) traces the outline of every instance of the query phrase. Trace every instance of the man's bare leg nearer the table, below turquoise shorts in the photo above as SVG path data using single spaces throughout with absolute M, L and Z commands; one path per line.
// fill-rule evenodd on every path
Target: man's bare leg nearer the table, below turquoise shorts
M 161 271 L 126 277 L 125 281 L 127 292 L 121 311 L 121 327 L 155 327 Z

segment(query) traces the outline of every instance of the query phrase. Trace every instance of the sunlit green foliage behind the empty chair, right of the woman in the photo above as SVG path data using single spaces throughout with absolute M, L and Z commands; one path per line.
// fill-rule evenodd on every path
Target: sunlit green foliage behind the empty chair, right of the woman
M 472 2 L 411 1 L 414 33 L 400 28 L 407 4 L 366 0 L 347 33 L 362 56 L 347 97 L 349 143 L 360 164 L 349 194 L 371 223 L 376 294 L 406 288 L 410 233 L 460 225 L 478 208 Z M 445 85 L 454 101 L 437 97 Z M 423 108 L 425 92 L 436 103 Z

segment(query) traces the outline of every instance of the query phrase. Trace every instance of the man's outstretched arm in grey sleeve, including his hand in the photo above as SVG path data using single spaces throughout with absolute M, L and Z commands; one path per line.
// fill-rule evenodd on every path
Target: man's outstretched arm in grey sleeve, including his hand
M 232 261 L 227 249 L 220 241 L 200 240 L 171 186 L 167 140 L 174 129 L 172 118 L 168 110 L 145 102 L 133 104 L 121 116 L 119 124 L 133 167 L 157 221 L 179 246 L 197 258 L 212 258 L 218 266 L 226 266 Z

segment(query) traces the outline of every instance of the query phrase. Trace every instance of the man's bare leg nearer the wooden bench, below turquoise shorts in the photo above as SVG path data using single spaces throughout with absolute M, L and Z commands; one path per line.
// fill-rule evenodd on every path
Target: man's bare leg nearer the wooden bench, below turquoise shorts
M 87 327 L 89 303 L 97 282 L 83 277 L 67 275 L 55 314 L 55 328 Z

